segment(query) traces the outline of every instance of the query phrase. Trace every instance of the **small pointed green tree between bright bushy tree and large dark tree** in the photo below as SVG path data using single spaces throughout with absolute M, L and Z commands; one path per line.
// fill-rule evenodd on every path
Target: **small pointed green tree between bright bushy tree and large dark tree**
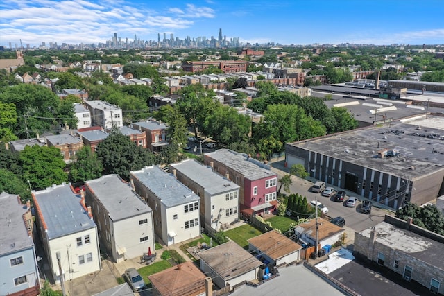
M 103 171 L 102 163 L 93 153 L 90 146 L 83 146 L 74 156 L 74 162 L 69 171 L 69 180 L 75 182 L 85 182 L 101 177 Z

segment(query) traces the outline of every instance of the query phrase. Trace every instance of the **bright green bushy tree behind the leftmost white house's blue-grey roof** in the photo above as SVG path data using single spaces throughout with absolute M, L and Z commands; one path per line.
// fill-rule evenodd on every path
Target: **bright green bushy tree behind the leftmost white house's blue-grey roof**
M 20 164 L 23 170 L 22 180 L 29 180 L 32 189 L 42 190 L 68 180 L 64 171 L 66 164 L 59 148 L 26 146 L 20 152 Z

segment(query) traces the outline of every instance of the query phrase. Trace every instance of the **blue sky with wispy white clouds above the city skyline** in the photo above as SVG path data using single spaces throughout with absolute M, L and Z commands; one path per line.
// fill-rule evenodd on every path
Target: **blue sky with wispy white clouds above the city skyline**
M 157 33 L 279 44 L 444 44 L 444 0 L 8 0 L 0 45 L 157 40 Z

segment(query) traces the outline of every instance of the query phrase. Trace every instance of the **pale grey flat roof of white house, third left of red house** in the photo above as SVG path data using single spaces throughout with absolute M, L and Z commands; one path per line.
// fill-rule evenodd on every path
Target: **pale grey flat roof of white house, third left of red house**
M 151 212 L 140 196 L 124 182 L 119 175 L 103 175 L 85 184 L 92 189 L 95 198 L 100 200 L 113 221 L 123 220 Z

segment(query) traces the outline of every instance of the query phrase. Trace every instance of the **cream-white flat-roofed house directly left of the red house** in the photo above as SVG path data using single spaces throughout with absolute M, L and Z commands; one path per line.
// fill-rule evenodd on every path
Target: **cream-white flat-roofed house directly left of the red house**
M 239 185 L 214 173 L 195 159 L 171 164 L 173 175 L 200 197 L 200 221 L 205 229 L 228 229 L 239 221 Z

